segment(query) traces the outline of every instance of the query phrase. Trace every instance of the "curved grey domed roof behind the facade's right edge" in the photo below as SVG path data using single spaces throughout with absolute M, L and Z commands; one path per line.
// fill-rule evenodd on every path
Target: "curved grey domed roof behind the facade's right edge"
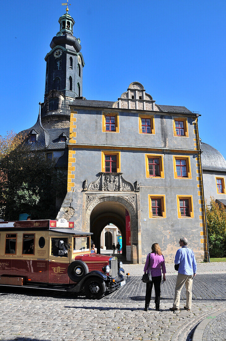
M 200 148 L 202 150 L 201 160 L 203 169 L 226 172 L 225 158 L 217 149 L 202 141 L 200 143 Z

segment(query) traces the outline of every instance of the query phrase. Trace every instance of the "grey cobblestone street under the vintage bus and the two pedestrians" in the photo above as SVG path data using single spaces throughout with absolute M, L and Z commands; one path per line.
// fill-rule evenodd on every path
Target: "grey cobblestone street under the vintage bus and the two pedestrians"
M 143 311 L 145 286 L 140 278 L 133 276 L 127 285 L 97 301 L 59 291 L 1 287 L 0 340 L 190 341 L 199 322 L 226 308 L 224 273 L 197 275 L 192 310 L 181 308 L 174 313 L 169 307 L 176 276 L 169 275 L 161 285 L 161 312 L 154 310 L 154 301 L 151 310 Z M 185 304 L 183 298 L 184 292 L 180 307 Z M 211 332 L 218 330 L 217 321 L 210 321 L 205 341 L 212 340 Z

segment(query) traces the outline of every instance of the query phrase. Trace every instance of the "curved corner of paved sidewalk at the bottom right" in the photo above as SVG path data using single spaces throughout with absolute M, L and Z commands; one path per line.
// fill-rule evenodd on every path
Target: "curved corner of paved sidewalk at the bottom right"
M 211 317 L 210 322 L 204 329 L 202 341 L 226 340 L 225 326 L 226 326 L 225 312 L 216 317 Z

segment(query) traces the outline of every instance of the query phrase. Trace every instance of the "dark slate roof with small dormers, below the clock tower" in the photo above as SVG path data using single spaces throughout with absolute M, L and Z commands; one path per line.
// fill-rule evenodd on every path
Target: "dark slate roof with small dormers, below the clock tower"
M 41 118 L 40 113 L 37 119 L 37 122 L 33 127 L 23 130 L 22 134 L 29 134 L 32 131 L 37 132 L 36 141 L 29 142 L 28 144 L 31 148 L 31 150 L 43 150 L 45 148 L 47 149 L 64 149 L 65 148 L 65 142 L 59 141 L 59 136 L 62 134 L 65 134 L 69 137 L 69 128 L 52 128 L 52 129 L 45 129 L 42 127 L 41 124 Z M 64 135 L 64 136 L 65 136 Z

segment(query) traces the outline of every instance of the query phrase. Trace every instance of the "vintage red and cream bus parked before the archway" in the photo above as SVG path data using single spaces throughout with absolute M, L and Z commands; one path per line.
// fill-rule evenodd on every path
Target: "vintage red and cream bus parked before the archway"
M 66 219 L 0 222 L 0 285 L 64 290 L 101 298 L 126 284 L 117 257 L 91 253 L 92 233 Z

